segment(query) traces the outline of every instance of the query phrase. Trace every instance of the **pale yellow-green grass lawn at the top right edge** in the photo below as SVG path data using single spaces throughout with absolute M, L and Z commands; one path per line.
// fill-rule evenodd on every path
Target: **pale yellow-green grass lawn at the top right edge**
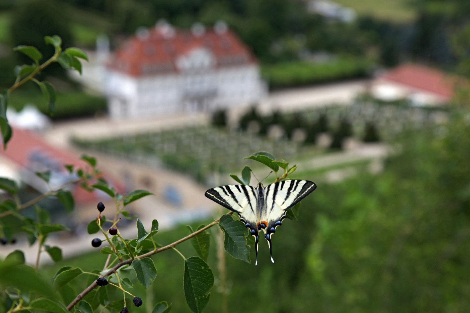
M 410 0 L 335 0 L 353 8 L 358 15 L 372 15 L 392 22 L 409 22 L 416 17 Z

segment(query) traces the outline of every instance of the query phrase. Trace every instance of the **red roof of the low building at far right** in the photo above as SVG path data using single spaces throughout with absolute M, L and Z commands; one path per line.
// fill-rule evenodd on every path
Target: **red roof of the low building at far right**
M 454 93 L 455 79 L 437 69 L 416 64 L 404 64 L 386 72 L 381 78 L 433 92 L 446 98 Z

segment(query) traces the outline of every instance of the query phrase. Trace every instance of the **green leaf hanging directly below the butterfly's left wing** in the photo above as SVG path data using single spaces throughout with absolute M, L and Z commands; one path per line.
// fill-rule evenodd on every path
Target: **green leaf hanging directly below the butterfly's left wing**
M 246 241 L 248 229 L 245 225 L 241 221 L 235 221 L 231 215 L 225 214 L 220 218 L 219 226 L 225 234 L 225 251 L 235 259 L 251 263 L 250 246 Z

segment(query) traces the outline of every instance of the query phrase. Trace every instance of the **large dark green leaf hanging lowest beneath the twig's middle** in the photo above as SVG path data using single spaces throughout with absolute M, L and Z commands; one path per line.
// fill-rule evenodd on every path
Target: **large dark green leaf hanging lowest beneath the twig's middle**
M 191 257 L 184 262 L 184 295 L 191 311 L 203 312 L 214 286 L 211 268 L 199 257 Z

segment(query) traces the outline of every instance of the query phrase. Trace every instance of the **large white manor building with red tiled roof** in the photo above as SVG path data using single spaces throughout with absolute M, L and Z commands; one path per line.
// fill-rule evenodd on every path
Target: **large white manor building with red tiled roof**
M 211 112 L 267 94 L 255 57 L 223 22 L 137 31 L 111 56 L 104 88 L 116 119 Z

